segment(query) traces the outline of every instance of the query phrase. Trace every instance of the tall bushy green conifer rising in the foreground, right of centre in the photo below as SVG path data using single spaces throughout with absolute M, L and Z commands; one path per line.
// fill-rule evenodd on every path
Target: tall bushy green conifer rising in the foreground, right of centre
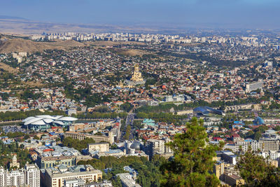
M 207 132 L 203 120 L 192 118 L 186 124 L 186 133 L 176 134 L 167 144 L 174 151 L 174 159 L 165 162 L 161 169 L 163 186 L 218 186 L 214 174 L 213 157 L 218 147 L 207 145 Z

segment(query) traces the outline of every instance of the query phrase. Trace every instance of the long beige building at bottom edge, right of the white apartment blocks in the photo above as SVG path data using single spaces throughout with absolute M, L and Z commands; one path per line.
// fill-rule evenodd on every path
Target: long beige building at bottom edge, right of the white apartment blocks
M 62 187 L 69 179 L 83 179 L 85 182 L 94 182 L 102 179 L 102 171 L 91 165 L 77 165 L 73 167 L 58 167 L 45 169 L 43 183 L 46 187 Z

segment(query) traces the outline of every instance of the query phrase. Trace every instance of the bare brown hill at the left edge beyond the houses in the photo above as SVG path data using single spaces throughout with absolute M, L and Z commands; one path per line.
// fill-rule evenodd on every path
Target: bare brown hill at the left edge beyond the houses
M 0 43 L 0 53 L 35 52 L 47 49 L 65 49 L 84 46 L 78 41 L 37 42 L 26 39 L 9 39 Z

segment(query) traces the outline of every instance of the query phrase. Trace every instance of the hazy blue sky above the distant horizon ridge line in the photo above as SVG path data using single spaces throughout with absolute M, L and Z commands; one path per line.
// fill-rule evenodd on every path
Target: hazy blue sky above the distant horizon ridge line
M 280 28 L 280 0 L 0 0 L 0 15 L 42 22 Z

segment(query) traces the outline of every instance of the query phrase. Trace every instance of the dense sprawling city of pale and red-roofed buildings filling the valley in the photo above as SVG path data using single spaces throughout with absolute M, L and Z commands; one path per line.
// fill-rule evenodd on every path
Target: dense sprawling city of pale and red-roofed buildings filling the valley
M 246 151 L 279 165 L 280 35 L 24 40 L 79 45 L 0 53 L 0 186 L 159 186 L 170 142 L 195 118 L 220 146 L 209 172 L 223 186 L 245 183 L 236 165 Z

